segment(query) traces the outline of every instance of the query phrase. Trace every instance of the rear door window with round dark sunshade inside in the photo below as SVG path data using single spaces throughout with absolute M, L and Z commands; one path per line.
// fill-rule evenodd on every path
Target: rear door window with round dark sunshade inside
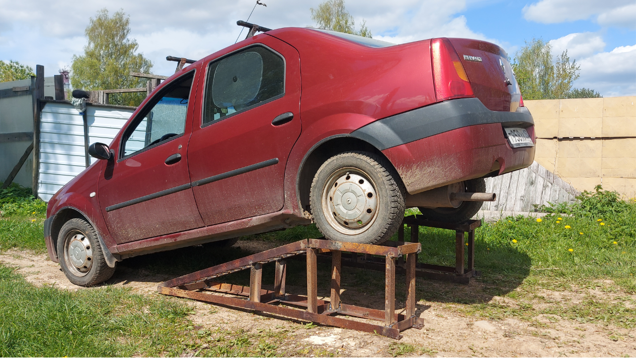
M 249 110 L 284 94 L 282 57 L 261 46 L 245 48 L 208 66 L 203 124 Z

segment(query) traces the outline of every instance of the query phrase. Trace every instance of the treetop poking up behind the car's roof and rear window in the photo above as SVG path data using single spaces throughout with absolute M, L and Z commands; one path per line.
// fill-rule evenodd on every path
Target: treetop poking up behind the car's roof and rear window
M 360 29 L 356 30 L 356 22 L 347 8 L 344 0 L 325 0 L 318 5 L 317 9 L 311 8 L 312 20 L 315 21 L 319 29 L 346 32 L 371 38 L 371 31 L 366 27 L 363 20 Z

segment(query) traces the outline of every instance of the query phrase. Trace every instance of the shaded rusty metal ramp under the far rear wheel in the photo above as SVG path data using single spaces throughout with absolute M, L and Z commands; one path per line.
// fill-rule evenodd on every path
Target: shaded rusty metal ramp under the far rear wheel
M 470 283 L 471 277 L 480 276 L 481 272 L 474 269 L 474 242 L 475 242 L 475 229 L 481 226 L 481 220 L 468 220 L 462 224 L 449 224 L 448 222 L 436 222 L 431 220 L 425 220 L 423 218 L 417 218 L 415 215 L 404 217 L 402 225 L 397 231 L 397 241 L 387 241 L 385 245 L 403 245 L 404 243 L 404 226 L 411 228 L 411 243 L 419 243 L 419 229 L 420 226 L 437 227 L 439 229 L 448 229 L 455 231 L 455 266 L 439 266 L 433 264 L 424 264 L 417 262 L 417 255 L 415 261 L 415 275 L 418 277 L 432 278 L 434 280 L 443 280 L 456 283 Z M 468 242 L 466 245 L 466 233 L 468 234 Z M 466 251 L 465 247 L 466 246 Z M 465 255 L 467 255 L 467 264 Z M 377 257 L 371 255 L 358 256 L 352 254 L 350 259 L 343 259 L 342 264 L 344 266 L 351 266 L 356 268 L 372 269 L 375 271 L 382 271 L 384 268 L 382 262 Z M 396 272 L 398 274 L 406 274 L 406 268 L 404 262 L 398 259 Z

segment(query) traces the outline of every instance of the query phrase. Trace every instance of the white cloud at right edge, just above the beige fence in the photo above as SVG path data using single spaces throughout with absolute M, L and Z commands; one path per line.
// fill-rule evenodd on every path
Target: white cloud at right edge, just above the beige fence
M 636 95 L 636 45 L 616 47 L 581 61 L 575 87 L 593 88 L 604 97 Z

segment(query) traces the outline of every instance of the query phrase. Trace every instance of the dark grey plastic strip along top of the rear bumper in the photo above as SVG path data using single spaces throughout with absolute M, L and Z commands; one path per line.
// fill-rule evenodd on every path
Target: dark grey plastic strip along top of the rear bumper
M 350 136 L 385 150 L 453 129 L 491 123 L 501 123 L 505 127 L 530 127 L 534 120 L 527 110 L 491 111 L 478 98 L 460 98 L 376 120 Z

